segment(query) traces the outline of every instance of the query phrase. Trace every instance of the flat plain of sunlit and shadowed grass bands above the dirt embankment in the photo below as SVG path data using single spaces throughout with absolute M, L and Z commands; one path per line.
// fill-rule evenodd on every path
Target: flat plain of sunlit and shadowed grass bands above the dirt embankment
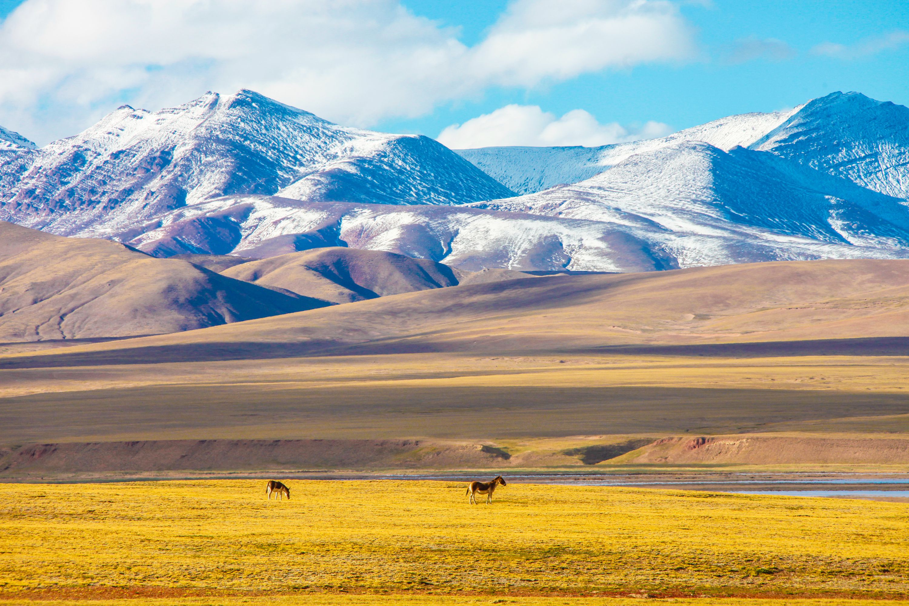
M 907 432 L 907 374 L 904 356 L 589 353 L 5 368 L 0 445 Z

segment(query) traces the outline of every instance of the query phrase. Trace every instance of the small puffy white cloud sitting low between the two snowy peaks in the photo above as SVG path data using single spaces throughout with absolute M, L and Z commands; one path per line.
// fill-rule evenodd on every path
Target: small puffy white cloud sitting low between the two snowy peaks
M 583 109 L 574 109 L 561 118 L 537 105 L 505 105 L 490 114 L 452 124 L 438 137 L 453 149 L 496 145 L 561 146 L 596 145 L 652 139 L 669 134 L 666 124 L 648 122 L 631 129 L 617 123 L 600 124 Z

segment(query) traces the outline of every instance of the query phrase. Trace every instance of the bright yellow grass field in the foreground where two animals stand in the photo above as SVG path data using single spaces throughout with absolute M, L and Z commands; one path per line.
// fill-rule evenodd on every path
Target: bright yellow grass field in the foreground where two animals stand
M 0 484 L 0 598 L 128 588 L 175 604 L 279 591 L 287 604 L 542 605 L 909 591 L 904 503 L 514 482 L 492 506 L 467 505 L 453 482 L 300 481 L 291 493 L 266 502 L 261 481 Z M 216 601 L 196 601 L 206 592 Z

